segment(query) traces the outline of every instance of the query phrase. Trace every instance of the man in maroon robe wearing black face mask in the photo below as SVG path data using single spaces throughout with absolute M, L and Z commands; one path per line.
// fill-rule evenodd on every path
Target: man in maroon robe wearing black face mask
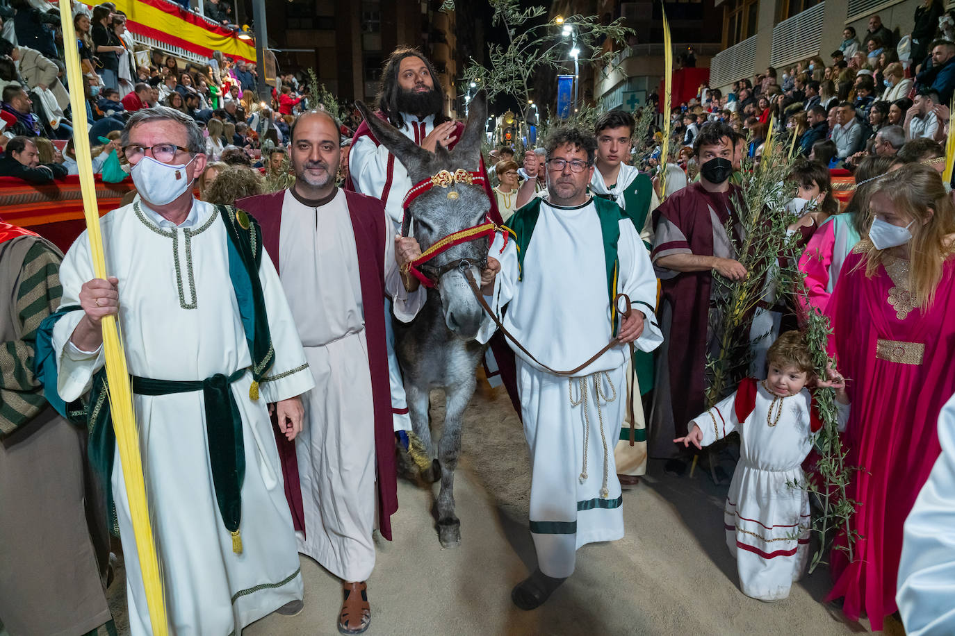
M 693 143 L 700 180 L 670 195 L 653 212 L 653 250 L 650 257 L 661 280 L 660 326 L 664 343 L 657 353 L 656 391 L 647 452 L 664 458 L 668 470 L 682 473 L 681 449 L 674 438 L 687 435 L 687 424 L 706 410 L 707 354 L 715 356 L 712 276 L 732 280 L 746 277 L 746 268 L 734 259 L 726 228 L 732 222 L 740 232 L 734 206 L 742 192 L 729 182 L 732 174 L 732 128 L 709 123 Z

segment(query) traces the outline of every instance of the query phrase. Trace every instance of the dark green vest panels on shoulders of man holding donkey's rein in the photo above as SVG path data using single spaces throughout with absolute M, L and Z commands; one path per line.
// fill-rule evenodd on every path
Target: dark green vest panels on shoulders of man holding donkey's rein
M 541 197 L 536 196 L 520 207 L 508 219 L 504 229 L 515 240 L 518 249 L 518 279 L 523 278 L 524 256 L 530 245 L 534 228 L 541 215 Z M 620 273 L 620 259 L 617 256 L 617 242 L 620 240 L 620 220 L 624 218 L 617 204 L 599 196 L 593 197 L 594 208 L 600 219 L 601 236 L 604 239 L 604 261 L 606 269 L 607 295 L 610 304 L 610 329 L 614 336 L 617 334 L 617 307 L 613 299 L 617 297 L 617 277 Z

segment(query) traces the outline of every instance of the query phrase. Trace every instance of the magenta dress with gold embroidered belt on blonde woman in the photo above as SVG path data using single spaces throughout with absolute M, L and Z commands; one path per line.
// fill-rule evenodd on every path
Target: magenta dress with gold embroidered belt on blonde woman
M 846 257 L 826 313 L 838 370 L 848 379 L 852 412 L 847 465 L 859 466 L 848 495 L 859 502 L 854 561 L 834 549 L 835 585 L 851 619 L 865 613 L 873 630 L 896 610 L 902 523 L 939 457 L 936 422 L 955 392 L 955 257 L 944 263 L 935 301 L 914 308 L 908 261 L 891 259 L 865 276 L 863 240 Z M 837 538 L 844 545 L 845 537 Z

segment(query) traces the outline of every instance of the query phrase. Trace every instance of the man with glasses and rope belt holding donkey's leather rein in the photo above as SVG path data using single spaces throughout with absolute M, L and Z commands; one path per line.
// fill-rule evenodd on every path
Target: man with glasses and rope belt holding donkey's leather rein
M 662 339 L 647 248 L 615 203 L 587 194 L 595 149 L 593 135 L 577 128 L 551 136 L 548 195 L 520 208 L 507 236 L 495 239 L 488 267 L 497 275 L 481 286 L 499 317 L 507 306 L 501 321 L 527 350 L 509 341 L 533 464 L 538 555 L 538 569 L 511 594 L 521 609 L 541 605 L 573 573 L 577 548 L 624 536 L 613 444 L 626 410 L 629 343 L 651 351 Z M 626 316 L 618 294 L 632 303 Z M 478 339 L 494 328 L 485 318 Z

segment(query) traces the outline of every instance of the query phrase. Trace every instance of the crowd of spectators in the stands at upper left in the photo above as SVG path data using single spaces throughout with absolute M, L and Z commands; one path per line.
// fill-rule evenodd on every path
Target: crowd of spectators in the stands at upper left
M 127 178 L 117 132 L 131 113 L 167 106 L 202 128 L 209 160 L 217 167 L 209 184 L 229 166 L 255 173 L 233 180 L 287 181 L 289 126 L 295 113 L 308 108 L 308 86 L 299 77 L 283 75 L 280 91 L 268 87 L 263 94 L 255 66 L 243 59 L 215 51 L 196 63 L 144 51 L 115 4 L 91 10 L 74 2 L 86 112 L 73 113 L 58 11 L 36 9 L 28 0 L 6 1 L 9 6 L 0 5 L 0 176 L 48 183 L 77 174 L 73 134 L 86 129 L 96 173 L 104 180 Z M 234 26 L 230 11 L 225 0 L 205 3 L 206 16 L 224 27 Z M 353 126 L 356 117 L 347 118 Z M 277 160 L 271 161 L 273 156 Z

